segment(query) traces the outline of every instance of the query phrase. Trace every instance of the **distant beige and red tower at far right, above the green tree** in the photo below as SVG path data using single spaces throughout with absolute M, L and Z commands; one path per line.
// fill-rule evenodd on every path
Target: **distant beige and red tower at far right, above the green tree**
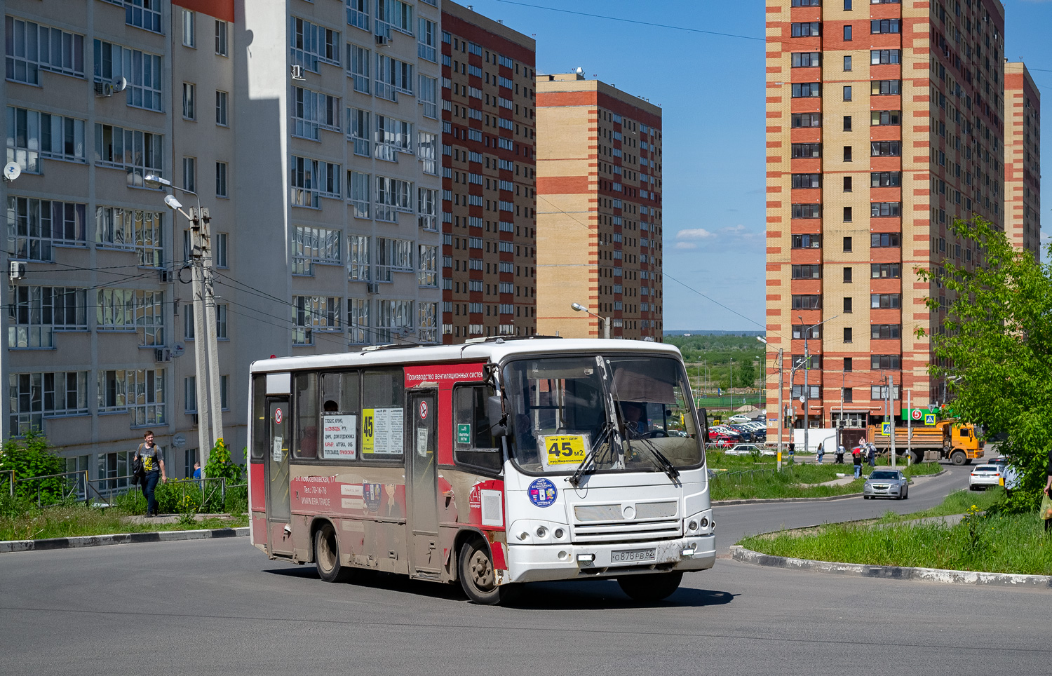
M 1020 62 L 1005 64 L 1005 232 L 1040 261 L 1041 95 Z

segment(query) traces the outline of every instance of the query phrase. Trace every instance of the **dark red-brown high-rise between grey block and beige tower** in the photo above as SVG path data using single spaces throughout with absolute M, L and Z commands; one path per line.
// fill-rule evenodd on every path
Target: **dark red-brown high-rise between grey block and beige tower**
M 442 3 L 442 340 L 537 332 L 534 41 Z

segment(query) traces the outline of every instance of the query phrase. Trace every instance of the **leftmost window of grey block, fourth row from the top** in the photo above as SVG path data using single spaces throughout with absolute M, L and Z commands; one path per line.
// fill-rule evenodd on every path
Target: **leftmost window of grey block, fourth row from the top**
M 16 286 L 7 306 L 7 347 L 54 348 L 57 331 L 86 331 L 86 291 L 66 287 Z

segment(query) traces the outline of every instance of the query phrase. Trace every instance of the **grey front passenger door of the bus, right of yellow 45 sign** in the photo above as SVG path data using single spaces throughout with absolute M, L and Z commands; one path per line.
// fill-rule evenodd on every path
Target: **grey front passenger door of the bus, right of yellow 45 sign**
M 436 487 L 436 431 L 438 392 L 433 389 L 409 393 L 413 424 L 406 439 L 406 494 L 409 498 L 409 570 L 414 577 L 434 578 L 441 574 L 439 513 Z

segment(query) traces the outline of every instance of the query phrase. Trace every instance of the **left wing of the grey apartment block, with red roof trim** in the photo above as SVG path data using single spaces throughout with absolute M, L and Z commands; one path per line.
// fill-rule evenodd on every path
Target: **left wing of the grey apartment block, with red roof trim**
M 93 478 L 126 475 L 145 429 L 157 432 L 170 474 L 197 456 L 184 343 L 193 299 L 179 283 L 186 221 L 143 179 L 198 192 L 222 231 L 217 263 L 234 264 L 232 20 L 232 2 L 4 5 L 5 162 L 22 173 L 0 185 L 0 200 L 7 259 L 25 273 L 9 275 L 0 314 L 0 435 L 39 429 L 70 471 Z M 227 309 L 237 300 L 224 292 L 217 321 L 231 411 L 245 402 L 230 388 L 239 328 Z M 241 417 L 227 415 L 228 426 Z

